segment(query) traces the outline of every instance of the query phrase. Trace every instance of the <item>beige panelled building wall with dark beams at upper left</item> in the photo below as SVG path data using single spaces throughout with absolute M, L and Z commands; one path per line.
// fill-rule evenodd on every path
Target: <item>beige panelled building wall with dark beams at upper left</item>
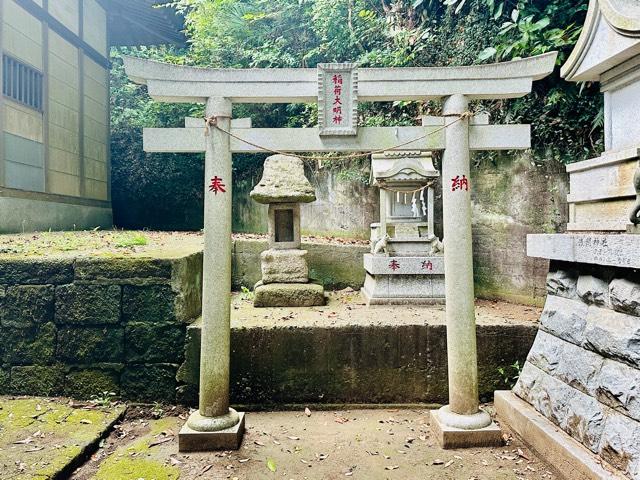
M 43 75 L 40 110 L 0 98 L 0 208 L 19 206 L 0 233 L 111 226 L 105 10 L 96 0 L 0 9 L 3 54 Z

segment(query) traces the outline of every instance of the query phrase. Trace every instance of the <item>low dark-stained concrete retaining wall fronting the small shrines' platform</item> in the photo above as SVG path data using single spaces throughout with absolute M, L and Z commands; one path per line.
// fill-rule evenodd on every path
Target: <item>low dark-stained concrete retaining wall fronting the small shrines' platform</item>
M 295 403 L 446 403 L 444 324 L 288 325 L 231 329 L 231 400 L 268 407 Z M 505 383 L 499 369 L 524 363 L 536 332 L 532 323 L 478 326 L 480 396 L 490 401 Z M 181 402 L 197 402 L 200 324 L 187 329 L 186 360 L 178 374 Z

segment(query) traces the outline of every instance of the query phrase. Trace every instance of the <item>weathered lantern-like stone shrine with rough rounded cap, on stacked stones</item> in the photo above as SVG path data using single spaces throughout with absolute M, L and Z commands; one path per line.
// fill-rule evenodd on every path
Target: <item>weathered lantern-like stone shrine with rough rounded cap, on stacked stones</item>
M 300 204 L 316 199 L 302 160 L 287 155 L 267 158 L 262 179 L 250 195 L 269 205 L 269 249 L 260 255 L 262 280 L 255 286 L 254 306 L 324 305 L 324 288 L 309 281 L 307 251 L 300 248 Z

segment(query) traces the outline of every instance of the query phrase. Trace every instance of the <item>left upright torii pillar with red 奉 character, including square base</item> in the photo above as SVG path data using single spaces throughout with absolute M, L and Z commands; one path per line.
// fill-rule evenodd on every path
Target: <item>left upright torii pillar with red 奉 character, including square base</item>
M 231 101 L 211 97 L 206 117 L 231 129 Z M 181 452 L 237 449 L 244 413 L 229 408 L 231 326 L 231 147 L 229 136 L 207 126 L 204 163 L 204 257 L 200 403 L 180 430 Z

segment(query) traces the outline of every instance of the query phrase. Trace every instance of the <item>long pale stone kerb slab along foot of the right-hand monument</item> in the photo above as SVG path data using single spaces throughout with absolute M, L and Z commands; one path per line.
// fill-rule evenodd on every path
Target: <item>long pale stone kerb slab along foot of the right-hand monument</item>
M 560 430 L 511 391 L 495 392 L 498 419 L 571 480 L 623 480 L 626 477 Z

